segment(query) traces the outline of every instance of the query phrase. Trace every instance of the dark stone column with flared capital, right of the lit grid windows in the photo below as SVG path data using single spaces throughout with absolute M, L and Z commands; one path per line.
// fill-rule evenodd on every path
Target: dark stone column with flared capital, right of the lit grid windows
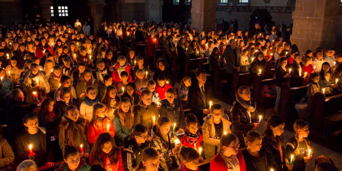
M 88 5 L 90 6 L 91 16 L 93 17 L 94 35 L 97 35 L 97 30 L 101 25 L 103 17 L 103 8 L 106 5 L 104 0 L 89 0 Z

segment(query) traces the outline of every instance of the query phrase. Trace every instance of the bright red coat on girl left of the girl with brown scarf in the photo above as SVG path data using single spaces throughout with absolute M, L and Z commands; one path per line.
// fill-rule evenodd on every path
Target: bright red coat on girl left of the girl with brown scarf
M 95 121 L 97 123 L 97 121 Z M 89 122 L 88 127 L 87 127 L 87 135 L 88 135 L 88 141 L 90 144 L 94 144 L 97 137 L 104 133 L 107 132 L 107 124 L 109 123 L 109 133 L 111 136 L 115 136 L 115 129 L 113 126 L 113 123 L 106 117 L 103 122 L 101 123 L 101 126 L 98 128 L 94 127 L 94 124 Z

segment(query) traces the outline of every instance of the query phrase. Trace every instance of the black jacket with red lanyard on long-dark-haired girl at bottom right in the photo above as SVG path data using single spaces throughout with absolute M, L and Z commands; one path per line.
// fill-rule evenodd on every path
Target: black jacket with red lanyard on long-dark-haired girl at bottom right
M 275 171 L 282 171 L 282 170 L 287 171 L 287 167 L 285 165 L 285 159 L 288 159 L 288 158 L 285 152 L 282 138 L 279 137 L 279 139 L 280 139 L 283 161 L 281 161 L 280 152 L 279 152 L 279 148 L 278 148 L 276 141 L 269 140 L 266 136 L 262 138 L 262 146 L 265 148 L 265 153 L 267 157 L 267 163 L 268 163 L 267 167 L 273 168 Z M 284 166 L 284 169 L 282 169 L 281 165 Z

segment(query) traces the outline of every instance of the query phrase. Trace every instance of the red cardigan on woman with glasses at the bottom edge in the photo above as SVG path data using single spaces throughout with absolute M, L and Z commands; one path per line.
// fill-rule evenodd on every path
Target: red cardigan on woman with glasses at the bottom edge
M 246 163 L 244 156 L 240 152 L 237 152 L 237 159 L 240 165 L 240 171 L 246 171 Z M 227 171 L 227 165 L 221 156 L 221 153 L 216 154 L 210 162 L 210 170 L 215 171 Z

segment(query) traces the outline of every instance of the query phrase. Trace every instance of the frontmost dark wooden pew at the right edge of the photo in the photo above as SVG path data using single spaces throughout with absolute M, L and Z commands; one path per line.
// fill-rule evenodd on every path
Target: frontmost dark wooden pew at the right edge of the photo
M 342 129 L 342 94 L 325 97 L 318 92 L 314 95 L 313 114 L 309 125 L 312 134 L 321 140 L 330 140 L 334 131 Z

